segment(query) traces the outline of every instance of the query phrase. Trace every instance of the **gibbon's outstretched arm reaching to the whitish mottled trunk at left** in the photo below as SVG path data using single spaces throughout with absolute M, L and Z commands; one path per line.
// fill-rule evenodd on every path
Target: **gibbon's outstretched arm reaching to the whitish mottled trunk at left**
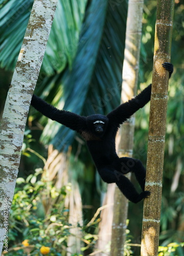
M 31 105 L 44 116 L 57 121 L 74 131 L 84 131 L 86 129 L 86 118 L 69 111 L 58 110 L 36 95 L 33 95 Z

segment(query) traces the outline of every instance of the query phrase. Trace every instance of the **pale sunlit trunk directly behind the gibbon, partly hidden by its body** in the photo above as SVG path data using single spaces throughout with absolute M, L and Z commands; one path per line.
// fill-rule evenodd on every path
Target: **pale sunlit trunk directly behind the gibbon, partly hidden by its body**
M 136 94 L 142 35 L 142 16 L 144 1 L 130 0 L 128 3 L 125 54 L 123 63 L 122 102 Z M 132 157 L 135 117 L 127 120 L 117 138 L 119 157 Z M 130 178 L 130 174 L 127 175 Z M 128 200 L 118 187 L 114 194 L 114 215 L 112 223 L 111 256 L 124 255 L 126 239 L 126 219 Z

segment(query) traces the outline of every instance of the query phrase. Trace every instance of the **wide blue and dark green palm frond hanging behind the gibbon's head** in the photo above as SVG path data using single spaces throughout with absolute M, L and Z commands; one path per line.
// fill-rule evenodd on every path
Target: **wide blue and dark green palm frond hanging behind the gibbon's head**
M 126 2 L 114 9 L 101 1 L 91 2 L 73 69 L 61 76 L 65 110 L 87 116 L 107 114 L 119 105 L 126 16 Z M 93 22 L 90 23 L 90 20 Z M 74 140 L 74 132 L 61 126 L 53 138 L 51 143 L 58 150 L 67 150 Z M 61 143 L 59 138 L 62 138 Z M 48 139 L 51 137 L 43 131 L 42 140 L 48 143 Z

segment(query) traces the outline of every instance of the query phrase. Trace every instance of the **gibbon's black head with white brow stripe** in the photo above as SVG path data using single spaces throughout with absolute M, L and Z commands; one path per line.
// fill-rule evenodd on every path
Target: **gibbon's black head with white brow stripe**
M 87 126 L 89 130 L 98 137 L 102 137 L 105 133 L 108 118 L 103 115 L 91 115 L 87 117 Z

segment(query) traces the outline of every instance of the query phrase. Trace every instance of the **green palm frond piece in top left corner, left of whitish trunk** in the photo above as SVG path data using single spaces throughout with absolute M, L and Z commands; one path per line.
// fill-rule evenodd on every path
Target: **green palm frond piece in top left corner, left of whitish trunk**
M 0 67 L 14 70 L 33 1 L 10 0 L 1 4 Z

